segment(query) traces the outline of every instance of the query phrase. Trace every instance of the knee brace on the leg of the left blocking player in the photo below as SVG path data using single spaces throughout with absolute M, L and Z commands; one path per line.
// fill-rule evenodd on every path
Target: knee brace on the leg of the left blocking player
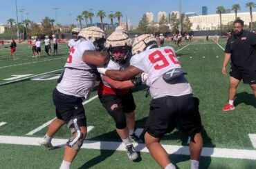
M 82 119 L 84 119 L 84 117 L 77 117 L 75 119 L 71 119 L 67 125 L 68 128 L 70 128 L 71 133 L 73 134 L 76 132 L 77 135 L 68 139 L 68 141 L 66 142 L 66 146 L 73 148 L 75 150 L 80 150 L 82 143 L 84 141 L 83 139 L 84 133 L 81 132 L 79 128 L 80 126 L 78 125 L 79 123 L 77 123 L 77 121 L 80 121 Z

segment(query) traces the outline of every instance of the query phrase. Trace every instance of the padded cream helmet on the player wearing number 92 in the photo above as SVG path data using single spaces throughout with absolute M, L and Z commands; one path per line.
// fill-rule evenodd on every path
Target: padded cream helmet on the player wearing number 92
M 138 54 L 153 46 L 158 47 L 156 38 L 151 34 L 142 34 L 134 39 L 134 43 L 132 44 L 132 54 Z

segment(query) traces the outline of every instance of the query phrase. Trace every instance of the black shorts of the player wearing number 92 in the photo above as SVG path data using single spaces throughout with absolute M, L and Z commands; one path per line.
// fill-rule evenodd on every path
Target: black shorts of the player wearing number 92
M 172 132 L 177 123 L 193 141 L 194 135 L 201 132 L 202 127 L 199 99 L 190 94 L 180 97 L 161 97 L 151 101 L 145 132 L 161 138 L 166 133 Z

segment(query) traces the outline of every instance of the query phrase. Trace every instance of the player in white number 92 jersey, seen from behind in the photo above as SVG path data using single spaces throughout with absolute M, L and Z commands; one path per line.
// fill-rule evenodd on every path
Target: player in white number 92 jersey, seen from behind
M 192 88 L 182 70 L 174 49 L 170 46 L 158 48 L 157 40 L 143 34 L 134 40 L 130 66 L 124 70 L 98 68 L 98 72 L 118 81 L 132 79 L 136 74 L 148 74 L 152 101 L 145 123 L 145 143 L 154 160 L 163 168 L 171 169 L 169 155 L 161 146 L 161 137 L 179 127 L 190 139 L 191 168 L 199 168 L 203 146 L 199 99 L 193 97 Z

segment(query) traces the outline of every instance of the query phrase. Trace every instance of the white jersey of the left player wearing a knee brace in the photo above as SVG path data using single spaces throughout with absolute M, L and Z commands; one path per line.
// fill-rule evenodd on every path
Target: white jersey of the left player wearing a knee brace
M 85 39 L 71 47 L 71 52 L 64 66 L 62 81 L 57 84 L 57 90 L 76 97 L 88 99 L 95 84 L 96 75 L 86 70 L 96 69 L 95 66 L 84 63 L 82 56 L 86 50 L 95 50 L 93 44 Z M 71 67 L 75 69 L 65 68 Z M 80 69 L 80 70 L 77 70 Z

